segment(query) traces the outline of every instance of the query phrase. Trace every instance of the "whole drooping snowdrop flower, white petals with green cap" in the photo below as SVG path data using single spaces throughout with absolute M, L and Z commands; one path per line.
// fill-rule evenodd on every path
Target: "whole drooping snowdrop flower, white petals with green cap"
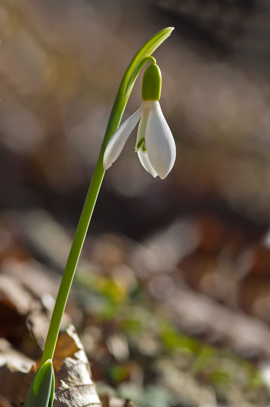
M 153 176 L 165 178 L 173 168 L 176 158 L 175 141 L 159 105 L 161 73 L 151 64 L 144 73 L 142 83 L 143 103 L 121 124 L 107 144 L 103 166 L 108 169 L 120 155 L 134 127 L 140 124 L 135 152 L 143 167 Z

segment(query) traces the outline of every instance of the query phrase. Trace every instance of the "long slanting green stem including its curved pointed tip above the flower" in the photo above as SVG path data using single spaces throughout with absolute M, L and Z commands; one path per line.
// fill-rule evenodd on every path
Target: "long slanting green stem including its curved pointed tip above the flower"
M 168 27 L 161 30 L 153 36 L 134 56 L 129 64 L 117 92 L 114 105 L 109 118 L 108 126 L 102 143 L 102 147 L 97 159 L 96 167 L 90 183 L 89 190 L 86 195 L 85 203 L 83 206 L 82 214 L 78 223 L 75 237 L 71 246 L 69 257 L 67 258 L 66 266 L 64 269 L 63 277 L 55 301 L 50 327 L 46 338 L 44 351 L 41 359 L 41 366 L 48 360 L 53 358 L 55 345 L 60 329 L 61 319 L 63 316 L 67 297 L 69 297 L 71 284 L 76 271 L 80 253 L 83 247 L 86 232 L 91 220 L 94 210 L 97 195 L 103 181 L 105 170 L 103 168 L 103 156 L 106 146 L 117 130 L 122 118 L 130 92 L 133 88 L 134 82 L 139 75 L 144 65 L 151 61 L 155 64 L 155 59 L 150 56 L 151 53 L 171 34 L 173 28 Z

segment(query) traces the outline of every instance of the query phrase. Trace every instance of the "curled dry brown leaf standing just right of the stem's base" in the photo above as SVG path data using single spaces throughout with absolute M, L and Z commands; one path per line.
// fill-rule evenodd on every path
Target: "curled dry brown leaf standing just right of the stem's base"
M 57 340 L 54 407 L 101 407 L 83 345 L 71 325 Z

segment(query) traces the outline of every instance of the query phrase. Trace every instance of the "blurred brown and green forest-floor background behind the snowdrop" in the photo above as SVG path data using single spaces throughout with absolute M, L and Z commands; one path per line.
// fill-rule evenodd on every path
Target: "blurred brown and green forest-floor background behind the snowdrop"
M 101 393 L 139 407 L 266 406 L 263 0 L 0 0 L 0 334 L 40 356 L 25 328 L 33 308 L 13 284 L 53 306 L 122 75 L 166 26 L 153 56 L 176 164 L 153 179 L 129 138 L 106 172 L 67 314 Z

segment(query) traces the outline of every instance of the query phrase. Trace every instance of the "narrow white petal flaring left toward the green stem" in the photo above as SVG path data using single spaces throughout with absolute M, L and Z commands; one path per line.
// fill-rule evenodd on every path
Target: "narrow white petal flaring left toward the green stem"
M 139 122 L 144 108 L 144 103 L 145 102 L 143 102 L 140 108 L 136 110 L 135 113 L 131 114 L 131 116 L 125 122 L 123 122 L 120 127 L 118 127 L 116 132 L 110 138 L 103 157 L 104 169 L 108 169 L 119 157 L 128 136 Z

